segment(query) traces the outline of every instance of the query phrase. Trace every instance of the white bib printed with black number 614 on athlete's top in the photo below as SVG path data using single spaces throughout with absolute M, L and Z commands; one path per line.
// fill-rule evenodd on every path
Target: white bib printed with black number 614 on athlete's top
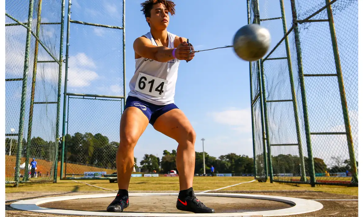
M 136 81 L 135 90 L 154 97 L 163 97 L 167 81 L 151 75 L 139 73 Z

